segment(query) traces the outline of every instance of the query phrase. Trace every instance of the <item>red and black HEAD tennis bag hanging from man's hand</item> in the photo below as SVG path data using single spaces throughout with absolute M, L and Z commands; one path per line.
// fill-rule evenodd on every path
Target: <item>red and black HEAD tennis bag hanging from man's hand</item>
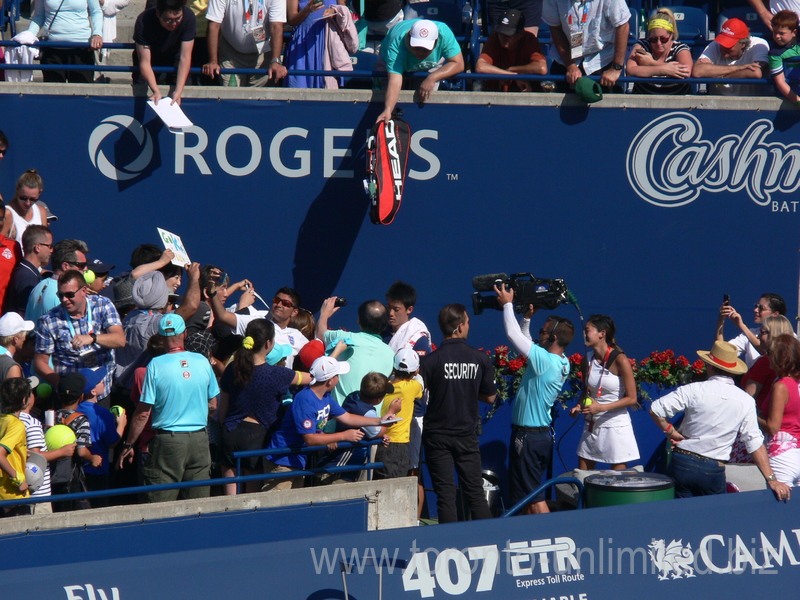
M 367 193 L 370 219 L 376 225 L 391 223 L 403 200 L 408 170 L 411 128 L 396 116 L 375 124 L 367 139 Z

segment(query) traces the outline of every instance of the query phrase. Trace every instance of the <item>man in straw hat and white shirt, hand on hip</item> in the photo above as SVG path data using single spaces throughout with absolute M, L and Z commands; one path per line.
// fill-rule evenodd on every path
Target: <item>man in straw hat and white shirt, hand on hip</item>
M 708 379 L 681 386 L 650 407 L 650 416 L 672 442 L 667 475 L 675 481 L 675 496 L 724 494 L 725 463 L 738 434 L 778 500 L 788 500 L 790 488 L 769 466 L 755 403 L 731 377 L 747 371 L 736 346 L 716 341 L 710 351 L 697 354 L 706 363 Z M 667 419 L 681 411 L 685 416 L 679 430 Z

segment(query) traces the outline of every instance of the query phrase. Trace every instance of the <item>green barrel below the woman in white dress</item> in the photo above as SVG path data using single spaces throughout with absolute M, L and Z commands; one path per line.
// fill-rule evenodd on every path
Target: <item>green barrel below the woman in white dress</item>
M 586 506 L 616 506 L 656 500 L 672 500 L 675 485 L 666 475 L 638 471 L 603 471 L 583 481 Z

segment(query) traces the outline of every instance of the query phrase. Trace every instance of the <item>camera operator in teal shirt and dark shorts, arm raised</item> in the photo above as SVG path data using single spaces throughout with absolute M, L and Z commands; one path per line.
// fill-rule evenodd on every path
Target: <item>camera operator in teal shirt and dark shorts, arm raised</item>
M 503 310 L 508 340 L 527 359 L 511 416 L 509 478 L 513 505 L 539 487 L 550 464 L 553 455 L 550 409 L 569 375 L 569 360 L 564 351 L 575 336 L 575 327 L 568 319 L 551 315 L 534 344 L 514 317 L 514 291 L 497 285 L 494 291 Z M 544 494 L 534 498 L 525 510 L 527 514 L 550 512 Z

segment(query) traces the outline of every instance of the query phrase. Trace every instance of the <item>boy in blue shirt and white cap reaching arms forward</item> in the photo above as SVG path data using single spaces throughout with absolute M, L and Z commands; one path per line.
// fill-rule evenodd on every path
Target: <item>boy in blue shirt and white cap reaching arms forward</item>
M 348 373 L 350 365 L 330 356 L 321 356 L 311 365 L 311 383 L 300 391 L 283 417 L 281 428 L 275 432 L 269 448 L 325 446 L 335 442 L 358 442 L 364 437 L 359 427 L 380 427 L 380 417 L 362 417 L 346 412 L 331 396 L 339 383 L 339 375 Z M 355 427 L 337 433 L 324 433 L 328 419 Z M 305 454 L 267 455 L 266 473 L 286 473 L 306 467 Z M 268 480 L 262 491 L 303 487 L 303 477 Z

